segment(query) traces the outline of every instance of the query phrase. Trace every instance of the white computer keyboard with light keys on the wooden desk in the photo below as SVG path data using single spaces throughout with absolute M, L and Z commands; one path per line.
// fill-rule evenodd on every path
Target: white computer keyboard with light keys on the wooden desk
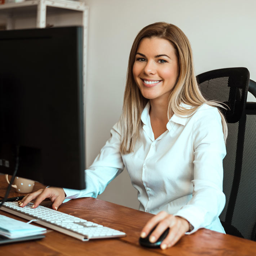
M 124 237 L 126 234 L 91 221 L 86 221 L 63 212 L 38 206 L 31 208 L 32 203 L 19 207 L 17 202 L 5 202 L 0 208 L 27 220 L 35 220 L 37 224 L 54 229 L 82 241 L 97 238 Z

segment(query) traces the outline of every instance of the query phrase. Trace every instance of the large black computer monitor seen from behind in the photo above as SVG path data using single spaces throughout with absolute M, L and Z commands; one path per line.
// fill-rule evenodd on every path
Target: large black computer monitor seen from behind
M 83 28 L 0 31 L 0 173 L 85 188 Z

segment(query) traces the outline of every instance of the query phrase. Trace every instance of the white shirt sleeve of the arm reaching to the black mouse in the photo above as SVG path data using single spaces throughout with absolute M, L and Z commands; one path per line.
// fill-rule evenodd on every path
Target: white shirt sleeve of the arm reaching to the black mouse
M 195 115 L 193 194 L 191 200 L 175 214 L 193 225 L 194 229 L 186 234 L 210 225 L 225 206 L 222 161 L 226 147 L 221 117 L 217 108 L 199 110 Z

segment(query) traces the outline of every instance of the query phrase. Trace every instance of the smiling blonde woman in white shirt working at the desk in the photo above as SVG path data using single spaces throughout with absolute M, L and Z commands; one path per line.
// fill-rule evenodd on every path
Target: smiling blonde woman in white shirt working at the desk
M 140 210 L 156 214 L 141 237 L 161 248 L 199 228 L 225 233 L 218 216 L 225 204 L 222 160 L 227 127 L 216 102 L 207 102 L 194 75 L 189 40 L 164 22 L 143 28 L 132 45 L 122 116 L 111 138 L 86 171 L 87 189 L 50 187 L 23 198 L 34 207 L 50 198 L 57 210 L 67 199 L 97 197 L 127 168 L 138 190 Z M 66 195 L 65 195 L 66 194 Z

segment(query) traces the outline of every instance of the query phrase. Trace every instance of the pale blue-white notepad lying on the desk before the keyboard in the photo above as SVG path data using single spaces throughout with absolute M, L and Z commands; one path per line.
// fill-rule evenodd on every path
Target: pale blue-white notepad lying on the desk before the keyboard
M 8 238 L 27 237 L 46 233 L 47 229 L 40 228 L 23 221 L 14 220 L 0 215 L 0 234 Z

